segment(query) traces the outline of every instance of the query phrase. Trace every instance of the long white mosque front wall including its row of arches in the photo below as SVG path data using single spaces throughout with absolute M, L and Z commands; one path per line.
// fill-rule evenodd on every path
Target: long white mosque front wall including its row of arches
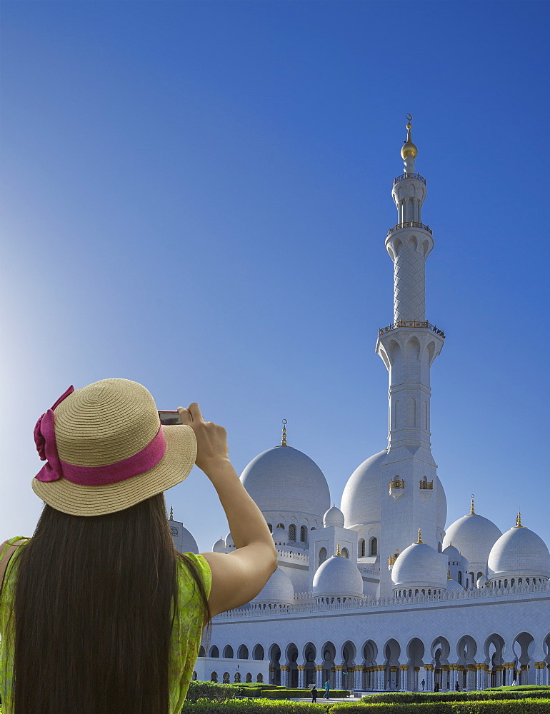
M 228 644 L 234 651 L 261 645 L 271 681 L 293 686 L 321 685 L 327 675 L 331 686 L 356 690 L 419 690 L 423 678 L 428 690 L 436 682 L 443 690 L 457 681 L 461 689 L 513 679 L 547 684 L 550 592 L 330 613 L 229 613 L 214 618 L 210 647 L 222 652 Z

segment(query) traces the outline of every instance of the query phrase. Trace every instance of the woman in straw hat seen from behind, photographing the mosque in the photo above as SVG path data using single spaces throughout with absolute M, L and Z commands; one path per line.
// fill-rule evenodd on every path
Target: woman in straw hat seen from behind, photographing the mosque
M 274 572 L 225 429 L 196 403 L 178 412 L 163 426 L 144 386 L 104 379 L 70 387 L 36 423 L 44 510 L 33 538 L 0 545 L 4 714 L 179 714 L 204 627 Z M 228 518 L 229 555 L 174 549 L 163 492 L 194 463 Z

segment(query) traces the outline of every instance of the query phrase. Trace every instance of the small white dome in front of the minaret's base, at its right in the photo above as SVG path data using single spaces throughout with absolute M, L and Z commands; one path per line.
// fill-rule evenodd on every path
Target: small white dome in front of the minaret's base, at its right
M 413 543 L 405 548 L 391 569 L 394 590 L 397 588 L 431 588 L 445 590 L 445 558 L 427 543 Z

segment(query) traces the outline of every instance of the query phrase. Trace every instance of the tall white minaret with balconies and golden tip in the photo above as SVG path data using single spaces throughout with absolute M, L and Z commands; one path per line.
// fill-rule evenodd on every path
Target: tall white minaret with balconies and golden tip
M 391 191 L 397 223 L 386 236 L 386 250 L 394 262 L 394 321 L 379 330 L 376 343 L 376 353 L 389 372 L 388 453 L 381 468 L 381 595 L 391 592 L 386 559 L 414 543 L 419 528 L 424 542 L 436 550 L 441 541 L 430 442 L 430 368 L 445 336 L 426 321 L 425 265 L 434 239 L 422 223 L 426 179 L 414 167 L 418 149 L 411 139 L 410 114 L 407 119 L 401 149 L 404 173 L 394 179 Z

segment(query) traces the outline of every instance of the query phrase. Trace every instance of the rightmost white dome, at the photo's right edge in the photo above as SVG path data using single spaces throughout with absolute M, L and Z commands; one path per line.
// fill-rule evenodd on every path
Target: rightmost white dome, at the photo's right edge
M 495 578 L 550 578 L 550 553 L 544 540 L 524 526 L 514 526 L 491 548 L 489 580 Z

